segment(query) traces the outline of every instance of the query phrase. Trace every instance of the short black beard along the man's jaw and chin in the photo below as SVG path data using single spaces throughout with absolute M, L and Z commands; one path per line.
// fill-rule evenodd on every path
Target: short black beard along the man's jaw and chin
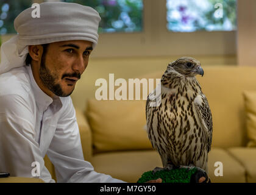
M 50 91 L 52 91 L 52 93 L 54 93 L 56 96 L 67 97 L 71 93 L 73 93 L 74 89 L 71 91 L 71 93 L 65 94 L 63 92 L 62 88 L 60 87 L 60 84 L 59 83 L 55 84 L 55 80 L 57 80 L 57 77 L 52 75 L 51 72 L 49 71 L 49 69 L 46 68 L 45 52 L 43 53 L 42 58 L 41 58 L 41 66 L 39 69 L 39 76 L 43 82 L 43 85 L 46 88 L 48 88 Z

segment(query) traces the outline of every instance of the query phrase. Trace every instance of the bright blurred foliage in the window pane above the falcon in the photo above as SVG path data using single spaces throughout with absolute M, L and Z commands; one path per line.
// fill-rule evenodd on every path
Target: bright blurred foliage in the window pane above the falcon
M 215 5 L 221 4 L 221 7 Z M 176 32 L 235 30 L 236 0 L 167 0 L 167 27 Z M 223 15 L 215 13 L 222 9 Z

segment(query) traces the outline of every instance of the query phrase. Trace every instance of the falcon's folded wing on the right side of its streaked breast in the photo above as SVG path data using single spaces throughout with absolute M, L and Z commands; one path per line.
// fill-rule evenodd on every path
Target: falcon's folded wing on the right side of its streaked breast
M 195 102 L 194 105 L 196 107 L 197 114 L 199 116 L 199 119 L 202 123 L 203 129 L 205 132 L 207 152 L 209 152 L 211 150 L 212 133 L 213 133 L 212 113 L 211 113 L 208 101 L 205 98 L 204 94 L 202 94 L 201 98 L 202 98 L 202 104 Z

